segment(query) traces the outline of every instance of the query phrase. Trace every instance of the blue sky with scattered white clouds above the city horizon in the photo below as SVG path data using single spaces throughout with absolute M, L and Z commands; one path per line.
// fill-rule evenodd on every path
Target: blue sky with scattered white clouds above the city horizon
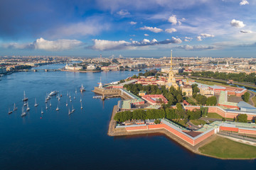
M 256 0 L 9 0 L 0 56 L 256 57 Z

